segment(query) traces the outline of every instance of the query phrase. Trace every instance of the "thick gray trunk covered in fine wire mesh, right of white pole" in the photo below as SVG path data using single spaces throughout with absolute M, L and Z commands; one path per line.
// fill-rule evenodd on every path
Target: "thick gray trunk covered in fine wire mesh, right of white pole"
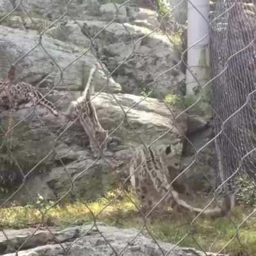
M 234 193 L 237 174 L 255 180 L 255 15 L 248 1 L 216 1 L 211 26 L 219 184 Z M 218 19 L 216 19 L 218 17 Z M 214 19 L 215 18 L 215 19 Z M 233 192 L 232 192 L 233 191 Z

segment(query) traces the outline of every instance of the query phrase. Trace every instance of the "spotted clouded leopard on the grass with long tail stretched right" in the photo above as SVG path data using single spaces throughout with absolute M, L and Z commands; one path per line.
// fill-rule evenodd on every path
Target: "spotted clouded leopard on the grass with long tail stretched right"
M 170 172 L 171 170 L 171 172 Z M 182 207 L 192 212 L 202 212 L 202 209 L 193 207 L 180 198 L 180 194 L 173 188 L 172 180 L 179 172 L 179 159 L 173 154 L 170 145 L 140 146 L 134 151 L 129 166 L 131 184 L 136 191 L 142 206 L 142 211 L 148 213 L 161 198 L 164 198 L 164 206 Z M 167 193 L 167 195 L 166 195 Z M 166 196 L 165 196 L 166 195 Z M 164 197 L 165 196 L 165 197 Z M 163 209 L 161 203 L 160 208 Z M 218 215 L 222 210 L 217 207 L 207 209 L 205 215 Z

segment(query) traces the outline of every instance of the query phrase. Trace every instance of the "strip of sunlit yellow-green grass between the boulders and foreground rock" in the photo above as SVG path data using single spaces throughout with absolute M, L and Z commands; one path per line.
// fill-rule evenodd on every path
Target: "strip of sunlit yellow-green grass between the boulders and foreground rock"
M 119 196 L 115 202 L 108 205 L 117 195 L 116 193 L 116 191 L 111 192 L 105 198 L 100 198 L 95 202 L 86 202 L 90 210 L 83 202 L 66 202 L 54 206 L 53 203 L 44 204 L 42 201 L 38 201 L 37 207 L 27 205 L 0 209 L 0 226 L 25 228 L 40 223 L 42 221 L 42 214 L 38 210 L 40 208 L 44 212 L 44 220 L 51 221 L 49 222 L 51 225 L 63 228 L 70 225 L 91 223 L 93 218 L 116 227 L 142 228 L 143 218 L 127 196 Z M 132 193 L 129 193 L 129 196 L 138 204 Z M 238 226 L 252 211 L 253 209 L 249 207 L 236 207 L 231 218 Z M 190 225 L 195 215 L 189 213 L 173 214 L 170 212 L 161 218 L 154 218 L 154 221 L 147 220 L 146 224 L 151 234 L 164 242 L 179 243 L 185 237 L 180 242 L 180 246 L 192 246 L 205 251 L 219 252 L 234 237 L 234 240 L 223 250 L 223 253 L 230 253 L 231 256 L 242 256 L 246 255 L 242 253 L 245 249 L 248 255 L 256 255 L 255 215 L 239 227 L 238 233 L 229 218 L 212 220 L 200 217 L 193 225 Z M 144 234 L 148 235 L 146 231 Z

